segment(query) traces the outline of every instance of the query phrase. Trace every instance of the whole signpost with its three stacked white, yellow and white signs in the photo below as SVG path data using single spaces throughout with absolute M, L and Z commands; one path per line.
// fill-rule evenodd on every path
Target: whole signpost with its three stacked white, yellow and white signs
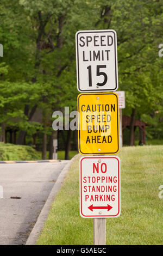
M 105 245 L 106 218 L 121 211 L 120 159 L 105 156 L 120 148 L 116 32 L 78 31 L 76 64 L 80 216 L 93 218 L 94 245 Z

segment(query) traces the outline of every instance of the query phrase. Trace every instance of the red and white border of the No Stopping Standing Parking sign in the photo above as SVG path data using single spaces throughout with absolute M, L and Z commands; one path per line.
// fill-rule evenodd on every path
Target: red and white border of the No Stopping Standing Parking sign
M 116 215 L 84 215 L 82 213 L 82 161 L 84 159 L 116 159 L 118 161 L 118 213 Z M 121 214 L 120 207 L 120 159 L 117 158 L 116 156 L 83 157 L 82 160 L 80 160 L 80 214 L 83 217 L 118 217 Z

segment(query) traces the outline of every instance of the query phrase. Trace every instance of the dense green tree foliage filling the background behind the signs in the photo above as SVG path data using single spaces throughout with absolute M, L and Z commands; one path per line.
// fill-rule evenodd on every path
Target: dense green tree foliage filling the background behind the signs
M 136 118 L 151 124 L 148 132 L 157 136 L 152 129 L 162 127 L 162 1 L 2 0 L 0 8 L 0 118 L 5 127 L 30 134 L 43 127 L 51 133 L 55 110 L 77 109 L 76 32 L 115 29 L 119 89 L 126 92 L 123 114 L 135 108 Z M 30 122 L 34 109 L 42 111 L 41 125 Z

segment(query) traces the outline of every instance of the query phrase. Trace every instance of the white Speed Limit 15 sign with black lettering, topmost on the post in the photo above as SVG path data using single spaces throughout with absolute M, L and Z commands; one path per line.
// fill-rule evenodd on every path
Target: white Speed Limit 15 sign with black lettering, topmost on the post
M 78 31 L 76 60 L 79 92 L 117 90 L 117 38 L 114 30 Z

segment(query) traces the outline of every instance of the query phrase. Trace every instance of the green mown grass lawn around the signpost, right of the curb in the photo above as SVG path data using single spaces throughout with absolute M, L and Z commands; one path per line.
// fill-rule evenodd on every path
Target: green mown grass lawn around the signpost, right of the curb
M 121 216 L 106 218 L 106 245 L 162 245 L 163 145 L 124 147 Z M 93 245 L 93 219 L 79 215 L 79 157 L 52 204 L 37 245 Z

